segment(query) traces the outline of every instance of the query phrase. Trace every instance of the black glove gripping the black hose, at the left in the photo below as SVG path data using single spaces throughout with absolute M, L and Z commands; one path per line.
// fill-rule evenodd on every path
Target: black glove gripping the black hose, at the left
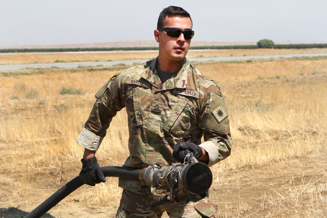
M 85 184 L 95 186 L 97 183 L 106 181 L 96 157 L 91 157 L 86 160 L 81 159 L 81 162 L 83 167 L 79 173 L 79 179 L 85 182 Z

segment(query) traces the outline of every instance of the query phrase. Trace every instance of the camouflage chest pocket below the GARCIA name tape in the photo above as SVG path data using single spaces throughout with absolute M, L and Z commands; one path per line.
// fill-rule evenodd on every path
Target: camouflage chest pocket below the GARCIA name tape
M 132 128 L 144 124 L 139 88 L 133 88 L 126 93 L 126 111 L 129 127 Z

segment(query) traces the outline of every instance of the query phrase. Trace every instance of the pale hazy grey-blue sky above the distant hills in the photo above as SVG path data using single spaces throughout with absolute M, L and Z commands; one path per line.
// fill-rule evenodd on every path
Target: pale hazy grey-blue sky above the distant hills
M 0 47 L 154 40 L 170 5 L 190 13 L 193 40 L 327 43 L 326 0 L 0 0 Z

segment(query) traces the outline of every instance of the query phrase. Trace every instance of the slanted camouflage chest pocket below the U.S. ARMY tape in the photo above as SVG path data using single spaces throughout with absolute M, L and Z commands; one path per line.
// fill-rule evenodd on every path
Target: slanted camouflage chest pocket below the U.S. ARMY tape
M 196 107 L 187 99 L 181 98 L 168 117 L 165 114 L 162 115 L 162 130 L 179 138 L 185 136 L 192 120 L 195 119 L 196 110 Z

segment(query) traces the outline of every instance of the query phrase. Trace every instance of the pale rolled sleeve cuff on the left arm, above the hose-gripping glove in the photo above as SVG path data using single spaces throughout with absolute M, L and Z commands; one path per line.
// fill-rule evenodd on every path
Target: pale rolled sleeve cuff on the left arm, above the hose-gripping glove
M 77 138 L 77 144 L 89 149 L 91 151 L 96 152 L 100 147 L 103 138 L 100 136 L 95 135 L 91 131 L 83 128 L 81 134 Z

